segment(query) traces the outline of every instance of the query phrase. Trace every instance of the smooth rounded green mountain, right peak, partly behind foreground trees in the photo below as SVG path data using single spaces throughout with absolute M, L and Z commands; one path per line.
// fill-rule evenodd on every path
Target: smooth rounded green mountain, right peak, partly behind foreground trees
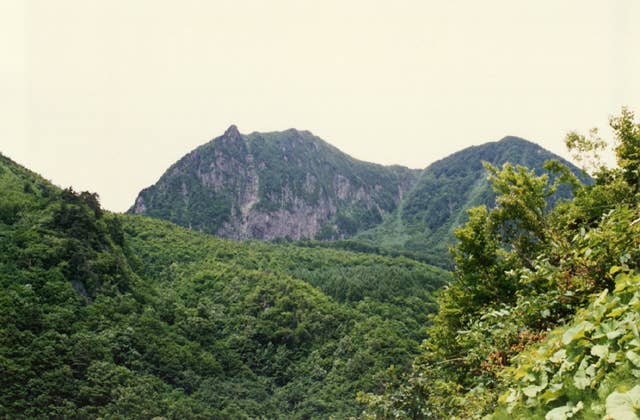
M 429 165 L 420 175 L 396 213 L 358 238 L 387 247 L 432 255 L 447 254 L 454 241 L 453 229 L 466 221 L 466 210 L 492 206 L 495 194 L 482 162 L 501 167 L 507 162 L 543 172 L 544 162 L 558 160 L 583 182 L 588 176 L 558 155 L 519 137 L 472 146 Z M 554 200 L 570 196 L 560 188 Z

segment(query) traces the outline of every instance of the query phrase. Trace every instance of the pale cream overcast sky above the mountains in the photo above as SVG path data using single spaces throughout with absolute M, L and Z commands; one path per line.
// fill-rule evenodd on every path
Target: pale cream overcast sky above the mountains
M 640 2 L 0 0 L 0 152 L 126 210 L 230 124 L 422 168 L 640 112 Z M 606 132 L 605 132 L 606 133 Z

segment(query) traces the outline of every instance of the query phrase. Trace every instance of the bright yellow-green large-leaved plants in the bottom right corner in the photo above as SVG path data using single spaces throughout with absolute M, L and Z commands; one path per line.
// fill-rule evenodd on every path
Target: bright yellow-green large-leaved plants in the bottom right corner
M 571 324 L 514 359 L 500 402 L 517 417 L 573 407 L 584 417 L 633 418 L 640 412 L 640 388 L 630 389 L 640 378 L 638 325 L 640 276 L 621 274 L 613 293 L 604 290 Z

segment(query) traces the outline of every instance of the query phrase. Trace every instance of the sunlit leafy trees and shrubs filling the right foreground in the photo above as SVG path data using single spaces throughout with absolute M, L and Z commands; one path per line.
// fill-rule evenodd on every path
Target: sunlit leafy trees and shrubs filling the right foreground
M 488 166 L 496 206 L 456 230 L 455 280 L 412 372 L 362 393 L 377 418 L 607 418 L 640 415 L 640 124 L 611 119 L 618 167 L 604 142 L 572 133 L 592 168 L 581 184 L 522 167 Z M 574 199 L 547 210 L 565 183 Z

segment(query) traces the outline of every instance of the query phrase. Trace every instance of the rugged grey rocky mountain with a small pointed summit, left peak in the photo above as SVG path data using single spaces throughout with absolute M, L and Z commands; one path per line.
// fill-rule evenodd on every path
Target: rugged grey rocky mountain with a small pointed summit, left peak
M 347 238 L 394 212 L 419 173 L 358 161 L 306 131 L 231 126 L 140 192 L 130 212 L 232 239 Z

